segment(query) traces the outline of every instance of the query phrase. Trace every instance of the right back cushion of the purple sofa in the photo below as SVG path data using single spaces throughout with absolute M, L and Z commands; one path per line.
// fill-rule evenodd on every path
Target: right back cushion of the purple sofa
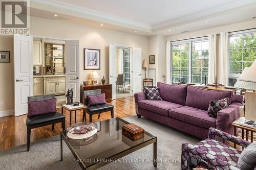
M 208 110 L 210 101 L 218 101 L 224 98 L 232 99 L 232 95 L 232 91 L 205 90 L 193 86 L 187 86 L 186 106 Z

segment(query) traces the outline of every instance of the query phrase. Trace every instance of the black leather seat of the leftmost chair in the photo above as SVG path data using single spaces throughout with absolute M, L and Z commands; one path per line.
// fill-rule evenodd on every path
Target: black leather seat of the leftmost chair
M 58 120 L 63 118 L 65 119 L 65 115 L 59 112 L 52 112 L 49 114 L 28 117 L 26 125 L 27 126 L 38 125 L 38 124 L 47 123 L 53 120 Z

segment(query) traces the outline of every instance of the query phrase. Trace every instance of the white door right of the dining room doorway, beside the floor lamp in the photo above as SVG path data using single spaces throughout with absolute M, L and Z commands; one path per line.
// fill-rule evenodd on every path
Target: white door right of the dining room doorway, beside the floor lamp
M 132 94 L 140 92 L 142 89 L 141 81 L 141 48 L 133 48 L 132 54 Z

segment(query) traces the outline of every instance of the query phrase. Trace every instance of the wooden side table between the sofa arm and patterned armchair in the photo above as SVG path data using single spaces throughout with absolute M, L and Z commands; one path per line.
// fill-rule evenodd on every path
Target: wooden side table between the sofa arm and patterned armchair
M 253 142 L 253 132 L 256 133 L 256 128 L 255 127 L 249 127 L 242 125 L 241 122 L 245 119 L 245 117 L 239 117 L 238 119 L 234 120 L 232 122 L 232 126 L 234 127 L 234 135 L 237 136 L 237 128 L 242 129 L 242 139 L 244 139 L 244 131 L 246 130 L 246 137 L 245 140 L 249 139 L 249 131 L 251 132 L 251 142 Z M 234 145 L 234 148 L 236 148 L 236 144 Z

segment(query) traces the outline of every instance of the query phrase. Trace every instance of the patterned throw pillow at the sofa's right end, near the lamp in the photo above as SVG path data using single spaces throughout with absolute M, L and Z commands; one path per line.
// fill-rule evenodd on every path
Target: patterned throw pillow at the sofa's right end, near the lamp
M 219 101 L 215 101 L 215 100 L 210 101 L 209 108 L 207 110 L 208 115 L 210 117 L 216 118 L 218 111 L 227 107 L 228 103 L 229 103 L 229 98 L 221 99 Z

